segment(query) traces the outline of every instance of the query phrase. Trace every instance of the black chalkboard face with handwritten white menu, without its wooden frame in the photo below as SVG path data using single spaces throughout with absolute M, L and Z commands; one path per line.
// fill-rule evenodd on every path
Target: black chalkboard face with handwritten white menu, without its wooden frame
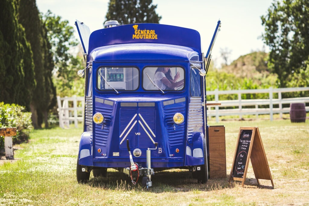
M 253 130 L 240 130 L 232 177 L 243 178 Z

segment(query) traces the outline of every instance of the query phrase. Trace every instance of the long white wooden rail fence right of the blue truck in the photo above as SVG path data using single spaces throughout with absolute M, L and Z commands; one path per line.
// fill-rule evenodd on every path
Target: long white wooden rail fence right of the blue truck
M 282 118 L 283 113 L 290 112 L 290 103 L 309 103 L 309 97 L 298 98 L 284 98 L 282 99 L 282 93 L 309 91 L 309 87 L 294 87 L 294 88 L 275 88 L 269 89 L 255 89 L 255 90 L 227 90 L 227 91 L 208 91 L 207 95 L 214 95 L 214 101 L 207 101 L 207 103 L 221 103 L 221 105 L 207 106 L 207 117 L 216 117 L 216 122 L 219 121 L 219 116 L 239 116 L 239 119 L 243 115 L 256 115 L 258 118 L 261 114 L 269 114 L 270 121 L 273 120 L 273 114 L 280 114 Z M 268 99 L 241 99 L 242 94 L 269 94 Z M 274 99 L 273 94 L 277 93 L 278 98 Z M 238 98 L 235 100 L 220 100 L 219 95 L 231 95 L 237 94 Z M 288 107 L 282 107 L 283 104 L 287 104 Z M 269 108 L 261 108 L 260 106 L 268 105 Z M 278 108 L 274 108 L 274 105 L 278 105 Z M 243 108 L 244 106 L 251 106 L 254 108 Z M 223 107 L 223 108 L 222 108 Z M 225 107 L 225 108 L 224 108 Z M 233 109 L 226 109 L 226 107 L 237 107 Z M 309 107 L 306 107 L 306 111 L 309 111 Z

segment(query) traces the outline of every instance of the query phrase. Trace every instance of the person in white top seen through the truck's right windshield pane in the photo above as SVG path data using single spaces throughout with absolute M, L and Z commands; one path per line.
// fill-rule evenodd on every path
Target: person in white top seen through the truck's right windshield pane
M 169 67 L 158 67 L 155 71 L 155 84 L 162 90 L 175 90 L 176 87 L 184 85 L 184 79 L 177 82 L 179 78 L 179 72 L 172 78 Z

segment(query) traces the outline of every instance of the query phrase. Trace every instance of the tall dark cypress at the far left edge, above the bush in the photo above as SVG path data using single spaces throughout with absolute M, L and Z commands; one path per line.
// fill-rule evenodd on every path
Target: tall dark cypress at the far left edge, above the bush
M 30 44 L 17 19 L 17 2 L 0 1 L 0 101 L 29 109 L 36 86 Z

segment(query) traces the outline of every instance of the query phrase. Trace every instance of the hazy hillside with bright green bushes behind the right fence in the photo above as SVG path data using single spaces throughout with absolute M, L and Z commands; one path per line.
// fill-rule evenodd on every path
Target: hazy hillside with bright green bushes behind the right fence
M 268 57 L 264 52 L 253 52 L 239 57 L 231 65 L 221 69 L 210 68 L 206 75 L 206 89 L 244 90 L 268 89 L 277 87 L 277 74 L 267 68 Z M 212 65 L 210 65 L 212 67 Z M 237 95 L 221 95 L 221 99 L 238 99 Z M 242 94 L 242 99 L 267 99 L 268 94 Z M 207 100 L 214 100 L 214 95 L 207 95 Z

